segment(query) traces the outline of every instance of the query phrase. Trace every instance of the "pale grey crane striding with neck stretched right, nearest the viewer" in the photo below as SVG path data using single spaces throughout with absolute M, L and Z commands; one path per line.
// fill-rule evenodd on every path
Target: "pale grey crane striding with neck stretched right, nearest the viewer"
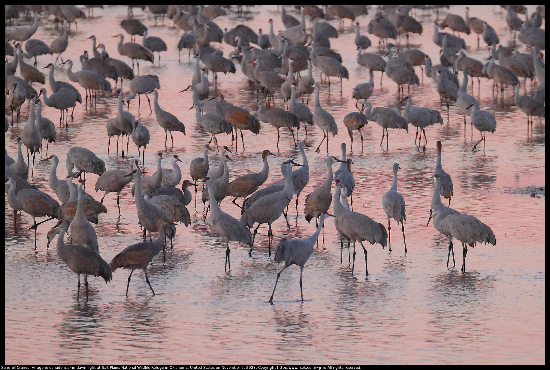
M 300 266 L 300 295 L 302 298 L 302 302 L 304 302 L 304 292 L 302 290 L 302 273 L 304 271 L 304 266 L 307 260 L 310 258 L 311 253 L 313 253 L 313 246 L 315 245 L 315 242 L 317 242 L 319 234 L 321 233 L 321 229 L 324 226 L 324 219 L 328 216 L 333 215 L 328 214 L 327 211 L 324 211 L 321 214 L 317 230 L 315 230 L 315 233 L 313 233 L 313 235 L 309 238 L 282 238 L 281 241 L 279 241 L 277 252 L 275 252 L 275 262 L 279 264 L 284 261 L 284 267 L 281 269 L 281 271 L 277 273 L 277 280 L 275 280 L 275 287 L 273 288 L 273 293 L 271 293 L 271 298 L 269 301 L 271 304 L 273 304 L 273 295 L 275 294 L 275 289 L 277 289 L 277 282 L 279 281 L 279 277 L 281 277 L 281 273 L 283 272 L 283 270 L 290 265 Z

